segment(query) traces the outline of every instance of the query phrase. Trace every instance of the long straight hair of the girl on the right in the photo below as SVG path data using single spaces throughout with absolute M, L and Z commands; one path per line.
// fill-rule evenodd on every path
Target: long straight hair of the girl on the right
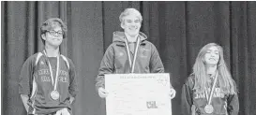
M 193 90 L 196 92 L 204 92 L 206 90 L 207 74 L 204 55 L 211 47 L 217 47 L 219 50 L 219 60 L 217 64 L 218 84 L 224 93 L 236 93 L 231 73 L 224 61 L 223 49 L 216 43 L 209 43 L 200 50 L 197 55 L 196 62 L 193 65 L 193 74 L 195 75 L 195 85 Z

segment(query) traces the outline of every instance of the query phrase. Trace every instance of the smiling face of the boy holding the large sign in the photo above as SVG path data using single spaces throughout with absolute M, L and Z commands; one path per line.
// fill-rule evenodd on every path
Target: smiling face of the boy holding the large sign
M 130 14 L 124 17 L 124 22 L 121 23 L 121 27 L 124 29 L 128 36 L 138 36 L 142 23 L 138 17 L 134 14 Z

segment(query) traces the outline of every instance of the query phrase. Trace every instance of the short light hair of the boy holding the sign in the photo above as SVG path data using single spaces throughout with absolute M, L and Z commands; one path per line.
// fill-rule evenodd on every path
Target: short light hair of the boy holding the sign
M 140 22 L 143 22 L 143 16 L 142 16 L 141 12 L 138 11 L 136 8 L 126 8 L 126 9 L 120 14 L 120 16 L 119 16 L 119 21 L 120 21 L 120 22 L 124 22 L 124 20 L 125 20 L 124 17 L 126 17 L 126 16 L 128 16 L 128 15 L 130 15 L 130 14 L 135 14 L 135 15 L 139 18 Z

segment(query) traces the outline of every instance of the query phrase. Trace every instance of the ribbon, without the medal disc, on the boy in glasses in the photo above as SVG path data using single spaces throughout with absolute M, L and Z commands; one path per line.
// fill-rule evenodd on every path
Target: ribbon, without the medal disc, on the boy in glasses
M 47 56 L 46 51 L 43 50 L 43 52 L 44 52 L 44 54 Z M 56 91 L 56 89 L 57 89 L 57 83 L 58 83 L 59 63 L 60 63 L 59 55 L 57 56 L 57 69 L 56 69 L 56 78 L 55 78 L 55 82 L 53 82 L 54 80 L 53 80 L 53 69 L 52 69 L 52 65 L 51 65 L 49 59 L 48 59 L 47 61 L 48 61 L 48 64 L 49 64 L 49 69 L 50 69 L 50 74 L 51 74 L 51 79 L 52 79 L 54 91 Z

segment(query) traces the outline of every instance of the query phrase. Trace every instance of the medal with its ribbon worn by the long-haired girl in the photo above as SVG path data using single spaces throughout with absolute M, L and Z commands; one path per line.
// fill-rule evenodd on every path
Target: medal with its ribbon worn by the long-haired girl
M 214 88 L 215 88 L 215 86 L 216 86 L 216 82 L 217 82 L 217 79 L 218 79 L 218 72 L 217 72 L 216 74 L 217 74 L 217 75 L 216 75 L 216 78 L 214 79 L 214 84 L 213 84 L 213 86 L 212 86 L 210 95 L 208 95 L 207 90 L 205 90 L 205 95 L 206 95 L 206 99 L 207 99 L 207 102 L 208 102 L 208 103 L 207 103 L 207 105 L 204 107 L 204 111 L 205 111 L 206 113 L 208 113 L 208 114 L 213 113 L 213 111 L 214 111 L 214 108 L 213 108 L 213 106 L 211 105 L 211 101 L 212 101 L 213 91 L 214 91 Z M 208 96 L 210 96 L 210 97 L 208 97 Z

